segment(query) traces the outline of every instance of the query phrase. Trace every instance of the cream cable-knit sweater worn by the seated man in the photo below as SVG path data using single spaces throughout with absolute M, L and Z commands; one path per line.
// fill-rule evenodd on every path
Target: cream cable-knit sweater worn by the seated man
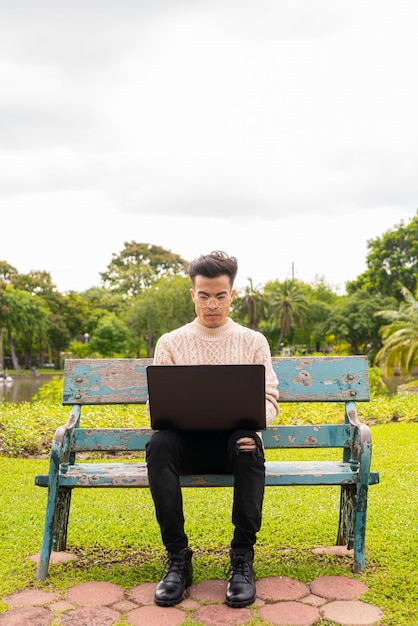
M 261 363 L 266 372 L 266 421 L 279 412 L 277 376 L 271 365 L 270 348 L 261 333 L 228 318 L 218 328 L 193 322 L 162 335 L 155 347 L 157 365 L 229 365 Z

